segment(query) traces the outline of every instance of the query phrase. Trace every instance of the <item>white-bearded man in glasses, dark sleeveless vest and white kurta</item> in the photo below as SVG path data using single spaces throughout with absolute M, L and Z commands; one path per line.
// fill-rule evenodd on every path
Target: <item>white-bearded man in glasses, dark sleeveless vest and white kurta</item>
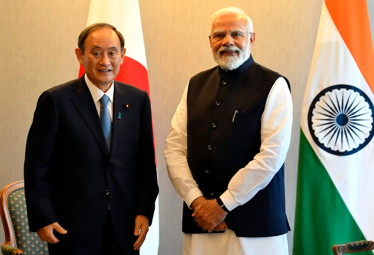
M 210 33 L 218 66 L 188 82 L 165 146 L 184 200 L 183 254 L 288 254 L 288 80 L 254 62 L 255 33 L 243 10 L 214 13 Z

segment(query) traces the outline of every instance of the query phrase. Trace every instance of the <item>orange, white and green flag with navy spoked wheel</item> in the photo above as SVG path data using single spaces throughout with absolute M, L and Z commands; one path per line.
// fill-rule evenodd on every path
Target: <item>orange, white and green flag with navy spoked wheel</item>
M 366 0 L 324 0 L 301 112 L 294 255 L 374 239 L 373 91 Z

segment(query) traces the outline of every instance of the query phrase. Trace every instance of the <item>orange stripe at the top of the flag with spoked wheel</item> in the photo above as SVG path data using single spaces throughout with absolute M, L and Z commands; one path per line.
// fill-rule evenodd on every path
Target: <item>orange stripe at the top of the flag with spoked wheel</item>
M 374 50 L 366 0 L 325 0 L 337 30 L 374 93 Z

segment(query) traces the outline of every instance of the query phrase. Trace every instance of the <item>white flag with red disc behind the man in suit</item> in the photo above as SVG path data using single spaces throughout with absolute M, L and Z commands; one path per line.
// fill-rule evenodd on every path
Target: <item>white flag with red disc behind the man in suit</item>
M 147 59 L 141 27 L 138 0 L 91 0 L 87 27 L 105 22 L 125 37 L 126 55 L 116 80 L 145 90 L 149 94 Z M 79 77 L 85 73 L 80 66 Z M 141 255 L 157 255 L 159 248 L 159 200 L 156 200 L 153 222 L 140 248 Z

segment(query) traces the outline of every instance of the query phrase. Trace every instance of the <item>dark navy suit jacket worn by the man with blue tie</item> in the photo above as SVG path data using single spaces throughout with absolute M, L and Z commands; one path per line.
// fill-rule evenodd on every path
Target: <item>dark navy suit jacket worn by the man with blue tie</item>
M 67 230 L 59 239 L 97 242 L 109 204 L 123 246 L 137 238 L 136 215 L 151 224 L 159 188 L 150 100 L 147 92 L 114 81 L 113 101 L 108 153 L 84 76 L 40 96 L 24 164 L 30 231 L 58 222 Z

